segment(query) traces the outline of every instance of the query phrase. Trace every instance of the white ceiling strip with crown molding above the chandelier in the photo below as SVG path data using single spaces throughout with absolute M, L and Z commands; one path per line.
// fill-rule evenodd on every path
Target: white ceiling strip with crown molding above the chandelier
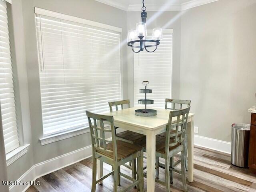
M 104 4 L 125 10 L 141 11 L 142 0 L 96 0 Z M 147 11 L 180 11 L 204 5 L 218 0 L 144 0 Z

